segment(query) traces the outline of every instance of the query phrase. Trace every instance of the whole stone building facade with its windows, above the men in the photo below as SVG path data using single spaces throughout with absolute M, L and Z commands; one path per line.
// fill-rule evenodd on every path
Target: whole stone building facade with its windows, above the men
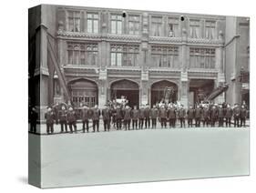
M 109 99 L 127 92 L 122 86 L 114 89 L 113 84 L 127 81 L 137 85 L 128 88 L 131 97 L 138 96 L 136 105 L 152 105 L 159 100 L 161 90 L 154 91 L 154 96 L 151 90 L 158 82 L 176 86 L 176 99 L 185 107 L 197 101 L 199 89 L 209 90 L 224 82 L 230 84 L 229 91 L 215 102 L 241 102 L 241 84 L 232 76 L 238 76 L 241 63 L 249 57 L 242 54 L 244 46 L 249 46 L 244 27 L 249 32 L 249 20 L 244 17 L 41 7 L 41 21 L 35 31 L 36 42 L 40 42 L 36 69 L 41 76 L 41 107 L 68 100 L 103 107 Z M 241 40 L 236 37 L 239 32 Z M 246 62 L 243 66 L 249 70 L 249 59 Z M 85 92 L 88 97 L 79 95 L 87 87 L 72 90 L 77 81 L 95 85 L 95 96 L 90 91 Z

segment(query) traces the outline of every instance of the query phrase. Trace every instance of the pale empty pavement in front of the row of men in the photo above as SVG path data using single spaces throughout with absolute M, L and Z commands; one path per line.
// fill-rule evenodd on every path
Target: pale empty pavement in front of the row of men
M 243 176 L 249 138 L 249 127 L 29 134 L 41 149 L 30 154 L 30 174 L 41 170 L 42 188 Z

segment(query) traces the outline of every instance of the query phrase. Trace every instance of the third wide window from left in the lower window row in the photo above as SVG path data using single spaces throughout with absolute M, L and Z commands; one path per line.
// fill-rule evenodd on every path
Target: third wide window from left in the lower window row
M 177 46 L 151 46 L 153 66 L 179 67 L 179 48 Z

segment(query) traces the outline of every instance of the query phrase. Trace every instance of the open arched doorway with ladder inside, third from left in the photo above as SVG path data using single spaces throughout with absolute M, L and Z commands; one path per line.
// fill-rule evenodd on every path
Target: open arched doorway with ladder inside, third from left
M 173 93 L 169 95 L 169 102 L 176 102 L 178 99 L 178 86 L 167 80 L 162 80 L 151 86 L 151 105 L 155 105 L 165 100 L 165 93 L 170 89 Z

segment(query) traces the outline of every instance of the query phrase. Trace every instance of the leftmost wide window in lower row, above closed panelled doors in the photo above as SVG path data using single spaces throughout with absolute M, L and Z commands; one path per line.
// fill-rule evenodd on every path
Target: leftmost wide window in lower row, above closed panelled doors
M 67 64 L 97 66 L 97 44 L 68 44 Z

